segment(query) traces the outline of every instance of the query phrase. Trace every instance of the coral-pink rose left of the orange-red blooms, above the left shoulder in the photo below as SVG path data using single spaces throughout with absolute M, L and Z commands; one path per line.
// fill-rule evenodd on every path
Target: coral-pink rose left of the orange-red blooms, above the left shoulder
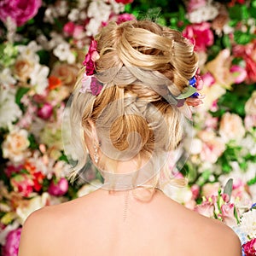
M 33 177 L 30 174 L 20 173 L 15 177 L 10 178 L 10 183 L 14 188 L 15 192 L 20 193 L 22 196 L 28 197 L 33 191 Z

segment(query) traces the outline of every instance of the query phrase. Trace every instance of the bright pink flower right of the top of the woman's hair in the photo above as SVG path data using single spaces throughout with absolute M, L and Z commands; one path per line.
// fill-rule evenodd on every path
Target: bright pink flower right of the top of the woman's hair
M 195 50 L 206 51 L 207 46 L 211 46 L 214 42 L 210 27 L 211 24 L 208 22 L 189 25 L 184 29 L 183 36 L 189 38 L 193 44 L 195 43 Z

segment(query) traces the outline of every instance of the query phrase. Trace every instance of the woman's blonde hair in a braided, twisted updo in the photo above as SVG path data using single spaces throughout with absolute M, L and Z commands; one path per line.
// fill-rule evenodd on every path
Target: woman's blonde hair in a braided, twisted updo
M 188 90 L 198 65 L 188 39 L 149 20 L 110 23 L 95 39 L 100 55 L 95 76 L 104 86 L 98 96 L 80 93 L 84 69 L 79 74 L 71 108 L 78 164 L 71 177 L 85 164 L 84 131 L 90 136 L 89 119 L 96 124 L 105 152 L 111 145 L 119 154 L 147 159 L 154 151 L 161 161 L 161 154 L 177 148 L 183 138 L 184 117 L 163 95 L 168 91 L 175 97 Z M 114 155 L 103 157 L 98 165 L 109 166 Z

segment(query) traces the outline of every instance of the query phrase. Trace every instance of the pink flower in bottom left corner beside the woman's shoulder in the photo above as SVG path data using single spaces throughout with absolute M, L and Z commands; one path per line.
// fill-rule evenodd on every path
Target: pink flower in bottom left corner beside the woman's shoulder
M 19 253 L 21 228 L 12 230 L 6 236 L 6 243 L 3 247 L 3 256 L 17 256 Z

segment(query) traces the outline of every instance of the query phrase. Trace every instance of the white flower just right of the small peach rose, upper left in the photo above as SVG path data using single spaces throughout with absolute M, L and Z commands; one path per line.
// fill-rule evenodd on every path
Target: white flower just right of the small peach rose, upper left
M 39 63 L 36 63 L 32 73 L 30 74 L 30 84 L 39 95 L 43 94 L 49 84 L 47 79 L 48 74 L 49 67 L 42 66 Z

